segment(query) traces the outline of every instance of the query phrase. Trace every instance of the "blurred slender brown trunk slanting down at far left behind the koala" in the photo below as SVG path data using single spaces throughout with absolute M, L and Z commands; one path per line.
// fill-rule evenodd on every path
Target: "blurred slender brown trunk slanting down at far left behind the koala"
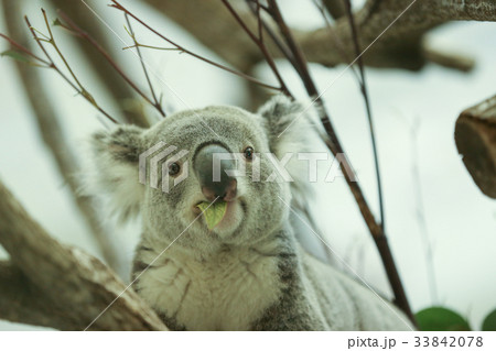
M 21 25 L 22 21 L 18 20 L 22 19 L 22 3 L 3 1 L 3 10 L 10 35 L 19 40 L 25 47 L 31 46 L 31 40 Z M 89 197 L 79 195 L 80 184 L 76 178 L 78 158 L 64 136 L 65 133 L 58 123 L 57 113 L 50 102 L 50 96 L 42 84 L 40 73 L 24 63 L 15 62 L 14 64 L 36 119 L 40 135 L 51 151 L 60 174 L 67 183 L 89 232 L 98 244 L 105 261 L 120 274 L 126 274 L 122 271 L 123 257 L 119 255 L 109 233 L 101 227 L 94 201 Z

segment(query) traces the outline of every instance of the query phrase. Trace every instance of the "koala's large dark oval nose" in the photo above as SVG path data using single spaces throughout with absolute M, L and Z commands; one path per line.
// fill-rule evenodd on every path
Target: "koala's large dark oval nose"
M 203 146 L 193 161 L 202 193 L 209 201 L 217 197 L 230 201 L 236 197 L 237 180 L 233 175 L 236 160 L 217 144 Z M 227 172 L 226 172 L 227 171 Z

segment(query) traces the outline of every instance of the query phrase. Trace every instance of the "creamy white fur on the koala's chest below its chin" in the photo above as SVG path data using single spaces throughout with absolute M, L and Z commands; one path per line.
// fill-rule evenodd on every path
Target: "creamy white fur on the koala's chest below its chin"
M 159 261 L 137 282 L 140 295 L 187 330 L 248 330 L 279 298 L 277 260 L 250 249 Z

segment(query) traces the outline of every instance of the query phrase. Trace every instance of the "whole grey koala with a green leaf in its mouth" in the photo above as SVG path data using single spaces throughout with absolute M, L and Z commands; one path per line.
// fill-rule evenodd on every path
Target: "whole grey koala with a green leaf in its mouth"
M 96 190 L 121 219 L 141 217 L 132 286 L 172 330 L 412 329 L 392 304 L 296 239 L 302 227 L 292 224 L 292 207 L 304 208 L 304 175 L 290 167 L 292 182 L 274 177 L 268 155 L 282 160 L 309 147 L 316 134 L 303 112 L 277 96 L 257 113 L 213 106 L 150 129 L 122 125 L 93 135 Z M 153 187 L 139 182 L 140 155 L 160 142 L 175 152 L 163 157 L 162 186 Z M 216 154 L 239 156 L 223 160 L 214 179 Z M 142 157 L 141 172 L 150 172 Z M 228 172 L 239 164 L 245 174 Z M 215 201 L 226 210 L 209 229 L 198 204 Z

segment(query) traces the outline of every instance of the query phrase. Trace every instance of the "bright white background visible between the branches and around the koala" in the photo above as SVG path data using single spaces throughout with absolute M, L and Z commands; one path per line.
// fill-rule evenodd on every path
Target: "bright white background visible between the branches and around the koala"
M 43 28 L 41 13 L 37 12 L 40 2 L 43 1 L 30 1 L 26 8 L 26 13 L 39 29 Z M 196 53 L 220 61 L 157 12 L 137 1 L 122 3 L 136 9 L 140 17 L 149 19 L 154 28 L 171 39 Z M 292 2 L 285 8 L 293 25 L 320 25 L 319 13 L 309 3 L 311 1 Z M 98 1 L 97 8 L 119 35 L 129 42 L 122 17 L 116 10 L 106 8 L 105 1 Z M 134 30 L 149 43 L 161 44 L 139 30 L 137 24 Z M 0 31 L 4 32 L 3 15 L 0 17 Z M 55 35 L 64 36 L 60 30 L 55 31 Z M 496 94 L 496 24 L 453 23 L 436 30 L 431 40 L 438 46 L 473 55 L 477 61 L 474 72 L 462 74 L 434 65 L 427 66 L 420 73 L 367 69 L 386 195 L 387 232 L 413 309 L 417 311 L 441 304 L 468 316 L 473 328 L 479 329 L 482 319 L 496 308 L 496 202 L 484 197 L 474 185 L 457 155 L 453 131 L 456 117 L 463 109 Z M 90 91 L 101 96 L 71 42 L 60 42 Z M 115 44 L 116 48 L 123 46 L 118 39 Z M 1 42 L 0 50 L 4 48 L 7 44 Z M 145 87 L 132 53 L 120 53 L 120 56 L 125 59 L 125 67 Z M 186 55 L 145 52 L 145 59 L 154 67 L 154 84 L 158 90 L 164 92 L 169 107 L 184 109 L 212 103 L 236 105 L 242 100 L 244 85 L 238 78 Z M 288 65 L 280 66 L 289 86 L 303 98 L 304 91 L 298 77 Z M 344 68 L 313 65 L 312 74 L 320 89 L 324 90 Z M 260 67 L 258 73 L 266 80 L 272 79 L 265 67 Z M 97 112 L 82 98 L 75 97 L 53 72 L 45 72 L 44 75 L 46 89 L 53 94 L 55 106 L 64 116 L 67 136 L 78 154 L 84 155 L 85 140 L 101 128 Z M 161 80 L 172 87 L 180 98 Z M 326 90 L 324 99 L 368 201 L 377 208 L 368 127 L 353 75 L 348 72 L 337 79 Z M 111 101 L 103 102 L 112 108 Z M 413 125 L 417 125 L 417 138 L 413 136 Z M 62 242 L 96 254 L 67 187 L 40 140 L 13 65 L 7 58 L 0 59 L 0 178 L 28 211 Z M 414 153 L 417 157 L 412 156 Z M 414 185 L 414 169 L 420 174 L 421 191 Z M 344 180 L 338 178 L 332 184 L 319 184 L 317 189 L 316 199 L 310 205 L 330 245 L 360 276 L 387 292 L 387 281 L 374 243 Z M 423 204 L 428 235 L 433 245 L 439 292 L 436 300 L 429 294 L 425 240 L 422 239 L 417 217 L 419 200 Z M 116 229 L 116 240 L 121 243 L 121 250 L 129 260 L 138 234 L 139 223 Z M 0 321 L 0 330 L 20 328 L 26 327 Z

